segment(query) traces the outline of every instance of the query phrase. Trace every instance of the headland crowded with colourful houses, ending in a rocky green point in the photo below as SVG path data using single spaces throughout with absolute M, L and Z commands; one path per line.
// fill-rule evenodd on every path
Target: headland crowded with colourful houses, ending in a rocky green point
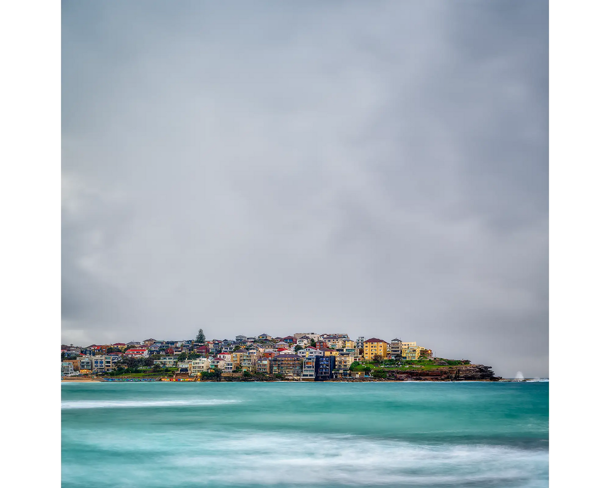
M 236 336 L 59 346 L 60 380 L 499 381 L 489 366 L 432 355 L 416 342 L 348 334 Z

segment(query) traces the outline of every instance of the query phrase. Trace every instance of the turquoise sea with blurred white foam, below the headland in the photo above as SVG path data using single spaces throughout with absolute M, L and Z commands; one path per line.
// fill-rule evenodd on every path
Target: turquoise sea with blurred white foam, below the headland
M 60 382 L 60 486 L 550 486 L 550 381 Z

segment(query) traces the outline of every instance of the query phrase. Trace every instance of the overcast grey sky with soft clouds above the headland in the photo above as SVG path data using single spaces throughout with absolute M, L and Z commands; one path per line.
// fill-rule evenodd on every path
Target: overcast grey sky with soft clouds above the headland
M 60 343 L 345 332 L 550 376 L 549 8 L 62 1 Z

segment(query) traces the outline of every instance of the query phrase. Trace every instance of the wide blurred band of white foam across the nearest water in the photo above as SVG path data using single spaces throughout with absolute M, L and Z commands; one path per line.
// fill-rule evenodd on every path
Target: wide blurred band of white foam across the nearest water
M 550 476 L 548 450 L 481 444 L 428 445 L 354 435 L 295 436 L 209 429 L 181 431 L 179 436 L 158 431 L 138 436 L 101 431 L 79 437 L 77 442 L 101 452 L 129 452 L 134 459 L 128 466 L 130 472 L 140 468 L 137 459 L 143 458 L 137 457 L 138 453 L 144 457 L 151 451 L 157 453 L 159 463 L 153 468 L 154 476 L 151 478 L 151 472 L 143 476 L 146 484 L 154 487 L 192 486 L 201 479 L 222 487 L 547 487 Z M 171 451 L 167 450 L 168 443 Z M 230 469 L 217 469 L 228 460 Z M 77 470 L 78 466 L 71 469 Z

